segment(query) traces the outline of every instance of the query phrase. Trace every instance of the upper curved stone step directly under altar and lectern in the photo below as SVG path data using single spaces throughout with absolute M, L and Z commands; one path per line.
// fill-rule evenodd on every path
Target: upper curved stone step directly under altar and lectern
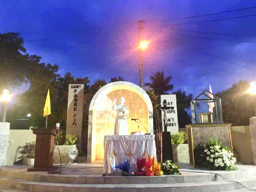
M 207 171 L 199 169 L 180 169 L 182 175 L 162 175 L 153 177 L 121 177 L 106 176 L 103 177 L 99 173 L 90 173 L 86 175 L 86 171 L 79 172 L 76 169 L 63 169 L 61 174 L 47 174 L 47 172 L 27 172 L 26 168 L 21 166 L 3 168 L 0 174 L 7 177 L 25 179 L 28 181 L 42 181 L 53 183 L 69 183 L 69 184 L 175 184 L 187 182 L 207 182 L 214 177 L 213 173 L 218 173 L 229 179 L 243 178 L 256 175 L 255 166 L 240 166 L 237 171 Z M 194 172 L 192 172 L 194 171 Z M 203 173 L 198 173 L 203 172 Z M 219 180 L 222 180 L 219 178 Z

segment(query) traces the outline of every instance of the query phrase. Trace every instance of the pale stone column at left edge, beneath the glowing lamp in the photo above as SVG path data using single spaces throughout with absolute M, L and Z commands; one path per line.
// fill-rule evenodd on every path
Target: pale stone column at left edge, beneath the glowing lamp
M 6 165 L 7 148 L 9 143 L 10 123 L 0 122 L 0 167 Z

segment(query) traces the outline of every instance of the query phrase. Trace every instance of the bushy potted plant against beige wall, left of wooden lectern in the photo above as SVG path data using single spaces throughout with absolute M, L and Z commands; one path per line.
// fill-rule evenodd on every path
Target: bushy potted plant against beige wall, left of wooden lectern
M 26 143 L 23 147 L 21 147 L 21 151 L 19 153 L 21 156 L 18 159 L 23 159 L 22 164 L 32 166 L 35 162 L 35 149 L 36 142 Z

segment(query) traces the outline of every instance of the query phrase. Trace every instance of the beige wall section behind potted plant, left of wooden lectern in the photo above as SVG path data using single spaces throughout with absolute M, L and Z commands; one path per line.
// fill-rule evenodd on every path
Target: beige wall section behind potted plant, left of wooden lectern
M 6 165 L 13 165 L 19 160 L 18 157 L 20 154 L 18 151 L 20 147 L 24 146 L 25 143 L 36 141 L 36 135 L 29 129 L 10 129 L 9 139 L 13 140 L 13 143 L 11 143 L 10 149 L 7 153 Z

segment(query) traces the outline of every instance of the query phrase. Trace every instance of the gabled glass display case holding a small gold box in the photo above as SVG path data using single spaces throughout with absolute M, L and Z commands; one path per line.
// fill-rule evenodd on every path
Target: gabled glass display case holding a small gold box
M 195 97 L 190 104 L 192 124 L 223 123 L 221 99 L 208 90 Z

